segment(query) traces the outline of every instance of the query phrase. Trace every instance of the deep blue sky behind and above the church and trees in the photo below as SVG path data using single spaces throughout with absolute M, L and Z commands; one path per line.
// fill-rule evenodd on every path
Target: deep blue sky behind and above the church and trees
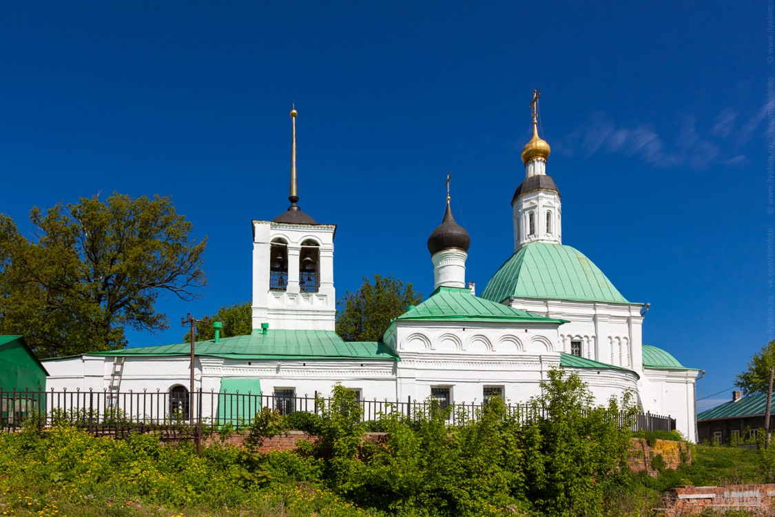
M 539 88 L 563 243 L 652 304 L 644 343 L 706 370 L 708 397 L 775 339 L 767 9 L 5 2 L 0 212 L 27 230 L 33 205 L 172 195 L 208 237 L 209 286 L 197 302 L 160 301 L 171 329 L 129 337 L 178 341 L 186 312 L 250 299 L 250 220 L 288 206 L 295 100 L 299 205 L 339 226 L 338 294 L 374 273 L 432 291 L 425 240 L 446 171 L 481 291 L 512 253 L 509 202 Z

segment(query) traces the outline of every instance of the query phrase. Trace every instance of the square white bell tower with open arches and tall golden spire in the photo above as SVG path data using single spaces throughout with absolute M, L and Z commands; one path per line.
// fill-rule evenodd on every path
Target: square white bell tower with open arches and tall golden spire
M 291 185 L 288 210 L 253 220 L 253 329 L 333 330 L 334 234 L 298 207 L 296 117 L 291 109 Z

